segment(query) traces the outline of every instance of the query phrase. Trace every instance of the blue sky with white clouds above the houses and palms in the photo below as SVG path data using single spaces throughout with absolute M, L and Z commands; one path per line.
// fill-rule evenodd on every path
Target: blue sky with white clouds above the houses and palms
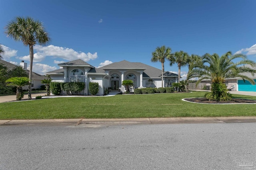
M 1 0 L 0 43 L 4 60 L 29 65 L 29 49 L 4 34 L 16 16 L 42 21 L 50 46 L 34 47 L 33 71 L 58 69 L 82 59 L 93 66 L 127 60 L 151 63 L 152 52 L 166 45 L 204 55 L 240 51 L 256 61 L 255 0 Z M 177 72 L 176 65 L 165 70 Z M 188 68 L 181 69 L 185 77 Z

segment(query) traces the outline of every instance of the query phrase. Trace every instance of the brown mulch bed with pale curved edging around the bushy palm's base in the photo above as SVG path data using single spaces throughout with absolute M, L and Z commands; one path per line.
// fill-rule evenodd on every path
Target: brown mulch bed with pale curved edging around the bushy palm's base
M 256 100 L 246 100 L 246 99 L 232 99 L 229 101 L 209 101 L 206 98 L 188 98 L 188 99 L 184 99 L 186 101 L 189 102 L 196 102 L 196 103 L 208 103 L 208 104 L 251 104 L 251 103 L 255 103 L 256 104 Z

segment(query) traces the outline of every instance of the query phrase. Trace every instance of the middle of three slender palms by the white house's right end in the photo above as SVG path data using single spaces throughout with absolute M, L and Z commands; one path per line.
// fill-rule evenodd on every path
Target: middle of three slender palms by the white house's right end
M 184 51 L 176 51 L 170 59 L 170 66 L 178 64 L 178 82 L 180 82 L 180 68 L 188 64 L 188 53 Z

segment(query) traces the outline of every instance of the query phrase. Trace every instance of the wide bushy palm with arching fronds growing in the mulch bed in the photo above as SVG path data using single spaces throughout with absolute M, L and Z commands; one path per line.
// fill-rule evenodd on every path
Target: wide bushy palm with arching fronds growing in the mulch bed
M 242 59 L 234 62 L 234 60 Z M 255 84 L 254 80 L 243 73 L 250 73 L 254 76 L 256 70 L 256 63 L 248 60 L 246 55 L 234 54 L 228 51 L 221 57 L 214 53 L 210 55 L 206 53 L 202 56 L 202 63 L 196 63 L 190 72 L 190 77 L 198 77 L 196 85 L 203 79 L 210 79 L 212 82 L 211 100 L 230 100 L 231 96 L 227 93 L 226 85 L 224 84 L 226 78 L 242 78 L 248 80 L 251 84 Z

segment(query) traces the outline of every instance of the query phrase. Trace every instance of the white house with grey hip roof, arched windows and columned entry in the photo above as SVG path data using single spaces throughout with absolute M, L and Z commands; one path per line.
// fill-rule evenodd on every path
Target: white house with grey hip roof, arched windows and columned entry
M 120 61 L 96 68 L 81 59 L 58 64 L 63 68 L 46 72 L 55 82 L 85 82 L 84 95 L 88 95 L 88 82 L 98 82 L 100 89 L 97 95 L 104 94 L 104 88 L 125 91 L 123 80 L 132 80 L 133 88 L 162 86 L 162 70 L 143 63 Z M 178 75 L 164 72 L 164 85 L 171 86 L 177 82 Z M 63 92 L 62 94 L 65 94 Z

